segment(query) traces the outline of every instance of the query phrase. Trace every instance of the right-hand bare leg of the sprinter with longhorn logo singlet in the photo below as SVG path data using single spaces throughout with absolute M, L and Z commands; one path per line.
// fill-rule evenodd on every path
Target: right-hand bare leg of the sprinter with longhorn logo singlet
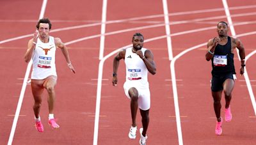
M 53 114 L 54 109 L 54 102 L 55 102 L 55 91 L 54 86 L 57 83 L 57 77 L 56 76 L 49 76 L 45 79 L 44 82 L 44 88 L 48 92 L 48 107 L 49 107 L 49 114 Z

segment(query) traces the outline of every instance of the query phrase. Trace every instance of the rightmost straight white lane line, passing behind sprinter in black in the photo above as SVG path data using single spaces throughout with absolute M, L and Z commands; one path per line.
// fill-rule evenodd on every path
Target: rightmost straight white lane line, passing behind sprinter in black
M 223 3 L 223 6 L 224 6 L 224 9 L 225 9 L 225 13 L 227 15 L 228 24 L 230 25 L 229 27 L 230 27 L 231 34 L 232 34 L 232 36 L 236 37 L 236 31 L 234 29 L 232 18 L 230 16 L 230 11 L 228 10 L 227 1 L 226 0 L 222 0 L 222 3 Z M 237 57 L 238 57 L 239 56 L 239 51 L 236 51 L 236 52 L 237 52 Z M 238 59 L 241 61 L 240 57 L 238 57 Z M 251 101 L 252 101 L 253 110 L 254 110 L 254 113 L 255 113 L 255 116 L 256 116 L 255 97 L 254 97 L 253 92 L 252 92 L 252 85 L 250 83 L 250 79 L 249 79 L 248 73 L 246 71 L 246 68 L 244 69 L 244 79 L 246 81 L 246 85 L 247 85 L 247 88 L 248 88 L 248 91 L 249 91 L 249 94 L 250 94 L 250 98 L 251 98 Z

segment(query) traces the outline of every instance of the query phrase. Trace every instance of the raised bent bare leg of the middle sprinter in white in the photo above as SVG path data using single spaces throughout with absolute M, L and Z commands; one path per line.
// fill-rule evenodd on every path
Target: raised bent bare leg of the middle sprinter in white
M 129 95 L 131 97 L 131 116 L 132 116 L 132 127 L 136 127 L 136 114 L 138 110 L 138 97 L 139 93 L 136 88 L 132 87 L 129 89 Z

